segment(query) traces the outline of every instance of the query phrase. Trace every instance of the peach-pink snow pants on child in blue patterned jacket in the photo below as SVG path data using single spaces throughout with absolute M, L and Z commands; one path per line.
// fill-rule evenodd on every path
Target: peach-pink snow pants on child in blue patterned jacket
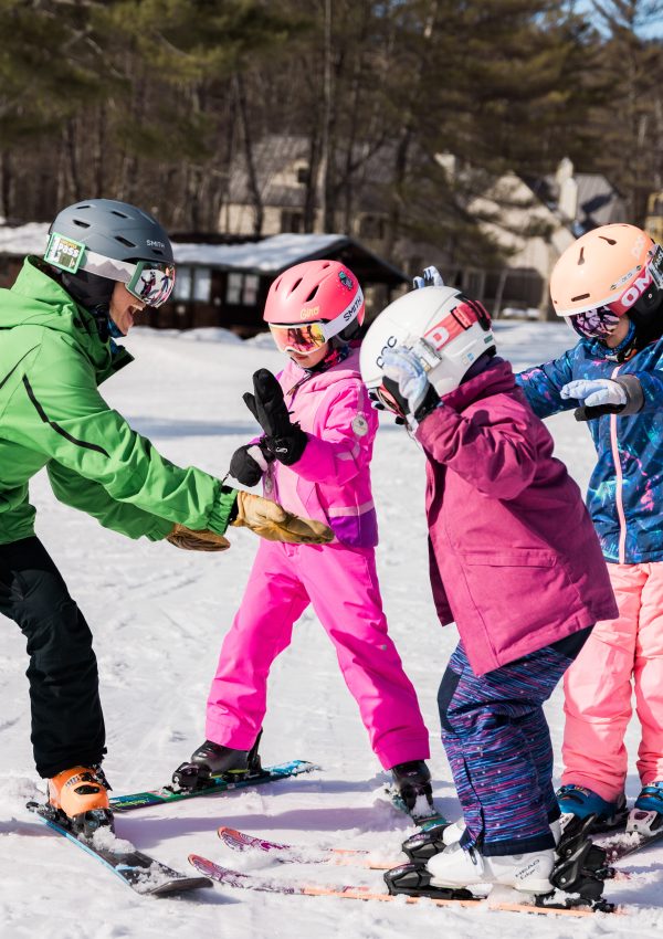
M 663 779 L 663 562 L 608 565 L 617 620 L 593 627 L 565 675 L 561 781 L 613 801 L 624 791 L 624 734 L 635 710 L 642 728 L 642 785 Z

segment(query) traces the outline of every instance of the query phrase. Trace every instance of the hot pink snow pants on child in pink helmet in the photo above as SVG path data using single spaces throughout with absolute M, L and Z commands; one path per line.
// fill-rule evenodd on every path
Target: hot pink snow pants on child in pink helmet
M 343 545 L 261 541 L 221 646 L 207 706 L 208 740 L 251 748 L 266 710 L 270 667 L 309 603 L 336 647 L 382 767 L 427 759 L 429 735 L 417 695 L 387 634 L 375 551 Z

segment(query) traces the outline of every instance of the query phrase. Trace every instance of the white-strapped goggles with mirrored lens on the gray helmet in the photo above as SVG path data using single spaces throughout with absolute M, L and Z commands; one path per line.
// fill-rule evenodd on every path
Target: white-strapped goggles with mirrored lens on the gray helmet
M 75 274 L 87 271 L 124 284 L 133 297 L 146 306 L 165 304 L 175 286 L 175 265 L 160 261 L 117 261 L 90 251 L 82 242 L 53 232 L 44 261 Z

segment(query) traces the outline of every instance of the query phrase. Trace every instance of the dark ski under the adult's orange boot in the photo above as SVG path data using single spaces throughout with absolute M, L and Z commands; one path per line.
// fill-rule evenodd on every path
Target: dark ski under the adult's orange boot
M 77 837 L 73 832 L 49 817 L 48 805 L 29 802 L 28 809 L 52 831 L 75 844 L 86 854 L 96 857 L 123 883 L 141 896 L 162 897 L 211 887 L 208 877 L 189 877 L 167 867 L 154 857 L 137 851 L 129 842 L 118 838 L 108 826 L 97 829 L 93 835 Z

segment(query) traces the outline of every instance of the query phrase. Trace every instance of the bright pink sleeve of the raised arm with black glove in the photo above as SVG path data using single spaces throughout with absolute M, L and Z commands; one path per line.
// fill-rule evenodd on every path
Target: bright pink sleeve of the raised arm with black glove
M 319 435 L 307 433 L 308 443 L 291 467 L 303 479 L 343 485 L 369 463 L 378 418 L 359 382 L 346 387 L 328 403 Z

